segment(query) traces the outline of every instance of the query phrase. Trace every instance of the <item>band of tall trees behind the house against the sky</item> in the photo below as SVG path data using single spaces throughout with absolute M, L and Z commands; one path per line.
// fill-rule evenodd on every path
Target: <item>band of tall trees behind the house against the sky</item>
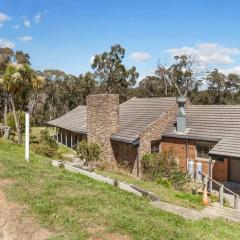
M 116 93 L 120 102 L 136 96 L 187 95 L 193 104 L 240 104 L 240 76 L 207 72 L 199 66 L 198 56 L 175 56 L 171 65 L 159 62 L 155 74 L 141 79 L 137 86 L 137 70 L 127 68 L 124 57 L 125 49 L 113 45 L 95 55 L 92 72 L 74 76 L 54 69 L 36 72 L 27 53 L 0 48 L 0 118 L 6 124 L 6 112 L 28 108 L 33 125 L 45 126 L 86 104 L 86 96 L 93 93 Z

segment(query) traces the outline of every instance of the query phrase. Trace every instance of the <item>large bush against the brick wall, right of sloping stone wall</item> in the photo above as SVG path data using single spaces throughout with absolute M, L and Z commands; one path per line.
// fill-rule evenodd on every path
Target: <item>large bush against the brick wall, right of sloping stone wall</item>
M 174 186 L 177 189 L 188 181 L 186 174 L 181 172 L 176 162 L 174 152 L 148 153 L 141 160 L 143 178 L 156 181 L 166 187 Z

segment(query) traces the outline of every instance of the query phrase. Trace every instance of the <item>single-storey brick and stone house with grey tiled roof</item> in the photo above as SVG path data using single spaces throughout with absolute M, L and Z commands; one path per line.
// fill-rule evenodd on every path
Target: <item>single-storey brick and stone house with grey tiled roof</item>
M 48 122 L 55 138 L 74 147 L 83 139 L 100 145 L 106 161 L 141 173 L 145 153 L 173 149 L 180 167 L 202 163 L 220 182 L 240 183 L 240 105 L 192 105 L 185 98 L 132 98 L 119 105 L 116 94 L 89 95 L 79 106 Z

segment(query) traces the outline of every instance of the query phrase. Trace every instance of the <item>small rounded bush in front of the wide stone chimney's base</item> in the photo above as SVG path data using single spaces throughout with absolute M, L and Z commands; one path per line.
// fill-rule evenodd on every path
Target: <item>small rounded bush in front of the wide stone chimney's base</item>
M 81 141 L 76 148 L 77 156 L 85 161 L 88 165 L 89 162 L 98 161 L 100 157 L 100 147 L 96 143 Z

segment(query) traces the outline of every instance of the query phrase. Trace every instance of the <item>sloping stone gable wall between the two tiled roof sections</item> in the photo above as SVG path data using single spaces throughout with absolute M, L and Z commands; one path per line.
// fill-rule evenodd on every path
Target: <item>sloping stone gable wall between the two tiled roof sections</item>
M 166 131 L 167 127 L 171 124 L 177 114 L 177 103 L 173 104 L 172 107 L 155 122 L 146 126 L 141 132 L 139 138 L 138 158 L 136 159 L 133 174 L 141 175 L 141 159 L 145 153 L 151 152 L 151 141 L 158 140 L 161 138 L 161 134 Z

